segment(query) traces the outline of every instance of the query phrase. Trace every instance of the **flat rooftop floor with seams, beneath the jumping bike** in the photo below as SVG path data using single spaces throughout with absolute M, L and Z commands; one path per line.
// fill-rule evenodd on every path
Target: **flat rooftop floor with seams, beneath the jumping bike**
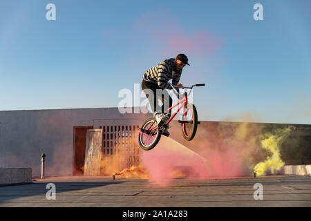
M 56 186 L 47 200 L 46 184 Z M 254 200 L 254 184 L 263 184 L 263 200 Z M 169 186 L 120 177 L 47 177 L 31 184 L 0 186 L 0 206 L 311 206 L 311 177 L 269 175 L 233 179 L 175 179 Z

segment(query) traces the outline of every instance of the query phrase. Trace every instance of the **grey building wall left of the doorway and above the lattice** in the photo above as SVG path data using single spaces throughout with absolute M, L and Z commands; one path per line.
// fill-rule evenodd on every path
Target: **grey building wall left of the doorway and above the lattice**
M 0 168 L 31 167 L 32 175 L 40 176 L 41 153 L 45 153 L 46 176 L 73 175 L 73 127 L 140 124 L 147 115 L 134 111 L 133 114 L 121 114 L 117 108 L 0 111 Z

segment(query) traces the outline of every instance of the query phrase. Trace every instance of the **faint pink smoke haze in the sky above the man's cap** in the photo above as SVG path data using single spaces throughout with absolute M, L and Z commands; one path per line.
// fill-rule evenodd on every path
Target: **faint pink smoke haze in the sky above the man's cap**
M 154 39 L 158 46 L 162 44 L 164 54 L 182 51 L 207 57 L 222 44 L 222 40 L 212 37 L 207 30 L 187 30 L 170 10 L 145 13 L 135 21 L 133 33 Z

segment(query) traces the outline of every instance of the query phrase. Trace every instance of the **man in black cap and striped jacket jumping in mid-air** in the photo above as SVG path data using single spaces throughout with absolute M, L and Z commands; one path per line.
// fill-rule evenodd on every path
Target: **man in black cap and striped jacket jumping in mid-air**
M 176 86 L 182 87 L 182 84 L 179 83 L 180 76 L 182 74 L 182 68 L 188 64 L 188 58 L 184 54 L 179 54 L 176 58 L 169 58 L 158 65 L 148 69 L 144 75 L 142 76 L 142 90 L 146 94 L 146 97 L 149 99 L 149 104 L 153 111 L 153 117 L 156 117 L 156 121 L 158 126 L 162 126 L 169 117 L 171 116 L 170 112 L 164 114 L 164 104 L 169 102 L 169 107 L 172 106 L 172 99 L 169 96 L 169 93 L 164 89 L 172 89 L 171 86 L 167 83 L 170 79 L 172 79 L 172 84 Z M 147 90 L 149 89 L 153 91 L 153 97 L 149 96 Z M 162 94 L 157 94 L 156 90 L 162 90 L 163 94 L 166 94 L 169 97 L 169 101 L 162 97 Z M 163 103 L 162 108 L 156 108 L 158 106 L 158 99 L 160 99 Z M 162 110 L 162 112 L 158 113 L 156 110 Z M 162 132 L 162 135 L 169 136 L 169 131 L 167 131 L 168 127 L 165 128 L 165 131 Z

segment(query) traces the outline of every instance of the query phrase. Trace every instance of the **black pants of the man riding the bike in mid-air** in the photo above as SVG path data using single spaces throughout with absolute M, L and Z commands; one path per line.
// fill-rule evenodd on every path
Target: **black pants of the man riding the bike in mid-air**
M 149 93 L 145 89 L 150 89 L 153 92 L 153 97 L 149 96 Z M 157 89 L 159 89 L 158 95 L 157 95 Z M 144 94 L 149 99 L 149 104 L 151 105 L 151 109 L 153 112 L 157 111 L 157 112 L 164 113 L 164 111 L 166 111 L 167 108 L 169 108 L 173 105 L 173 100 L 171 99 L 171 96 L 169 95 L 167 90 L 160 88 L 158 86 L 158 84 L 153 84 L 151 82 L 142 80 L 142 90 L 144 90 Z M 161 94 L 161 92 L 162 92 L 162 94 Z M 169 101 L 168 101 L 167 97 L 169 97 Z M 162 107 L 159 106 L 158 99 L 160 99 L 161 102 L 164 104 L 164 105 L 162 105 Z M 169 102 L 169 106 L 168 106 L 167 102 Z M 153 104 L 153 106 L 152 106 L 152 104 Z M 165 108 L 165 110 L 164 110 L 164 108 Z M 171 113 L 171 110 L 168 113 Z

